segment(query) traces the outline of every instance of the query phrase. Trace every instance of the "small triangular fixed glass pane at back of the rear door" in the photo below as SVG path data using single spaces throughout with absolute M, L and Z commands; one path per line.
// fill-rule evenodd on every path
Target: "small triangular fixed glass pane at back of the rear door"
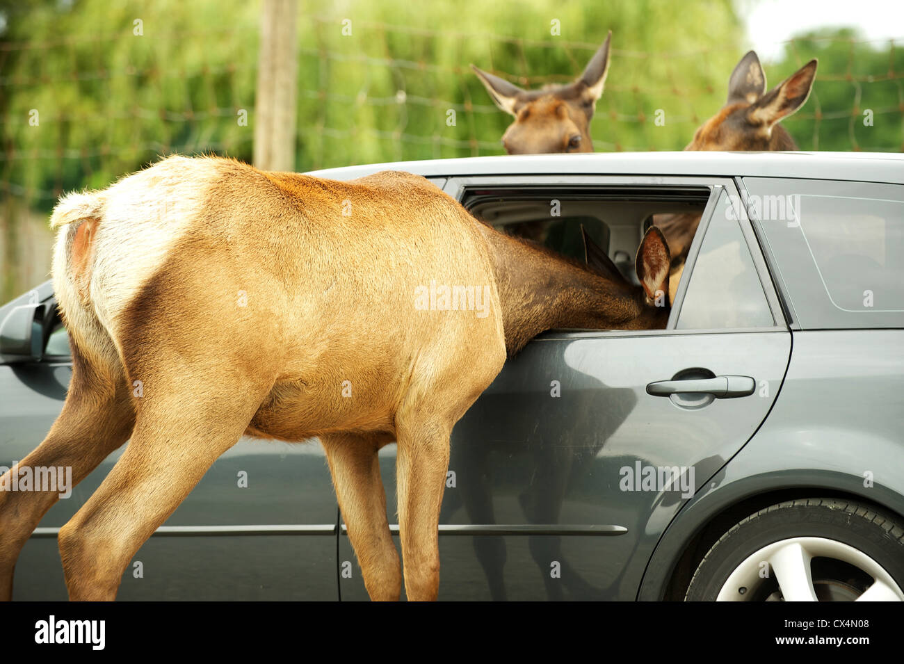
M 725 192 L 706 229 L 676 327 L 679 330 L 773 327 L 737 212 Z

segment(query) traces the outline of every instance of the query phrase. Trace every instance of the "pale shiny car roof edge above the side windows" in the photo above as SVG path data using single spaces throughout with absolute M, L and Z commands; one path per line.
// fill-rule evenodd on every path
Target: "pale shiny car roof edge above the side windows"
M 364 164 L 307 173 L 350 180 L 379 171 L 424 177 L 466 175 L 692 175 L 904 183 L 904 154 L 849 152 L 618 152 L 513 154 Z

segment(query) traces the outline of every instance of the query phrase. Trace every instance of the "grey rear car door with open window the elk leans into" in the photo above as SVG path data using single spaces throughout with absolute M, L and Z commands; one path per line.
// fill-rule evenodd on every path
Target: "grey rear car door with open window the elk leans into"
M 439 597 L 633 600 L 683 501 L 767 416 L 790 333 L 730 180 L 474 177 L 446 191 L 532 183 L 703 186 L 710 197 L 667 329 L 543 334 L 457 424 Z M 394 445 L 381 469 L 395 524 Z M 343 599 L 365 598 L 346 537 L 339 559 Z

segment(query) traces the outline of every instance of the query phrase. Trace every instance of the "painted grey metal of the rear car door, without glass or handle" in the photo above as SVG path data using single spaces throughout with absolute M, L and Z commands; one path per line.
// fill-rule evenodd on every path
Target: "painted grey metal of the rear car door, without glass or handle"
M 446 189 L 461 197 L 467 187 L 483 190 L 516 182 L 603 186 L 636 180 L 471 176 L 450 179 Z M 671 178 L 643 182 L 701 183 Z M 691 260 L 705 237 L 708 215 L 724 215 L 727 197 L 721 190 L 726 183 L 718 182 L 708 182 L 711 201 L 720 203 L 704 212 Z M 730 220 L 736 222 L 747 223 L 743 215 Z M 764 284 L 766 291 L 770 287 Z M 673 313 L 679 308 L 680 296 Z M 453 431 L 449 472 L 454 482 L 447 482 L 440 512 L 440 550 L 441 555 L 448 552 L 443 560 L 456 563 L 444 563 L 440 599 L 634 599 L 645 563 L 675 512 L 766 416 L 789 353 L 784 325 L 732 333 L 551 332 L 528 344 Z M 648 383 L 694 367 L 716 375 L 751 376 L 762 387 L 744 399 L 716 400 L 695 410 L 646 393 Z M 551 381 L 560 397 L 551 396 Z M 390 496 L 394 453 L 393 446 L 381 451 L 382 479 Z M 696 483 L 686 494 L 624 491 L 620 481 L 629 473 L 622 472 L 646 466 L 692 468 Z M 387 511 L 394 523 L 391 500 Z M 509 524 L 518 524 L 523 534 L 506 528 Z M 473 536 L 469 528 L 476 525 L 495 525 L 499 532 Z M 579 536 L 579 528 L 587 527 L 600 530 Z M 556 533 L 548 534 L 551 529 Z M 343 538 L 340 558 L 352 556 Z M 513 572 L 523 564 L 532 572 Z M 553 570 L 560 575 L 553 576 Z M 343 576 L 341 583 L 344 598 L 366 598 L 358 576 Z

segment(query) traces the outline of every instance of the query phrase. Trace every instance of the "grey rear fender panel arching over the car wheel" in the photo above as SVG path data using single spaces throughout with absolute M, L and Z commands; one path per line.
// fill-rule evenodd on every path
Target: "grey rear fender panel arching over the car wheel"
M 831 491 L 904 514 L 904 331 L 793 335 L 775 406 L 667 528 L 639 599 L 660 599 L 692 537 L 720 511 L 758 494 L 796 491 L 818 498 Z M 858 398 L 863 395 L 870 400 Z M 802 413 L 819 417 L 804 420 Z

